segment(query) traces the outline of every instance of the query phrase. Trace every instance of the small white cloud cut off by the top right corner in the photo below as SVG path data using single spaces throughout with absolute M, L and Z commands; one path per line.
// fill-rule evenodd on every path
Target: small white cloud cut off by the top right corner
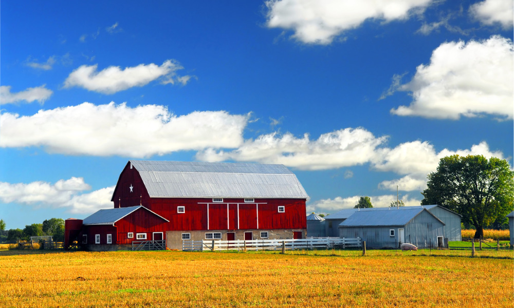
M 509 29 L 514 23 L 514 3 L 510 0 L 486 0 L 473 4 L 469 12 L 484 25 L 499 23 Z

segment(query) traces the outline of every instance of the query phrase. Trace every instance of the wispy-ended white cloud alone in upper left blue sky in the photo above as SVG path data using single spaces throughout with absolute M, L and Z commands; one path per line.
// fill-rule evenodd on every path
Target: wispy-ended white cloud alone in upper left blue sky
M 110 66 L 97 71 L 98 65 L 82 65 L 72 71 L 64 81 L 64 87 L 82 87 L 89 91 L 113 94 L 132 87 L 142 87 L 159 78 L 163 84 L 175 82 L 185 85 L 194 76 L 179 76 L 176 71 L 183 69 L 178 62 L 166 60 L 162 65 L 140 64 L 134 67 Z

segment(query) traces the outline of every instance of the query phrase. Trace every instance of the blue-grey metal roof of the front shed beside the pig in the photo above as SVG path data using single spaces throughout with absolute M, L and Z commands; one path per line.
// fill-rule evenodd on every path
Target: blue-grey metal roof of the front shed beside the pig
M 417 206 L 416 206 L 417 207 Z M 387 207 L 384 207 L 387 209 Z M 339 226 L 356 227 L 356 226 L 403 226 L 416 217 L 419 213 L 426 210 L 431 216 L 440 221 L 431 214 L 426 208 L 405 208 L 391 210 L 360 210 L 355 211 Z M 443 223 L 442 221 L 440 221 Z M 444 225 L 444 223 L 443 223 Z

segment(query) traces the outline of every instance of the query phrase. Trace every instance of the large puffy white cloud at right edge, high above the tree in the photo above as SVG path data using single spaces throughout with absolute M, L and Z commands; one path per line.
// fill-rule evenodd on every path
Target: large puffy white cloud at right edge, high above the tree
M 512 41 L 501 36 L 441 44 L 430 64 L 419 65 L 414 78 L 399 87 L 412 92 L 414 101 L 391 113 L 454 120 L 486 113 L 512 119 L 512 49 Z

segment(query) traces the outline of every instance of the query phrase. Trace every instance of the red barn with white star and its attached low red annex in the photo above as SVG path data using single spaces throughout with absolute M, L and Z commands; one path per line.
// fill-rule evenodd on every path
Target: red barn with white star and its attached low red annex
M 283 165 L 131 160 L 116 184 L 114 209 L 84 219 L 81 234 L 89 247 L 103 245 L 103 238 L 107 244 L 107 234 L 118 245 L 138 240 L 130 233 L 146 240 L 162 234 L 171 249 L 181 249 L 182 240 L 305 238 L 307 200 Z M 130 219 L 113 221 L 128 208 L 137 208 Z M 96 234 L 100 244 L 93 243 Z

